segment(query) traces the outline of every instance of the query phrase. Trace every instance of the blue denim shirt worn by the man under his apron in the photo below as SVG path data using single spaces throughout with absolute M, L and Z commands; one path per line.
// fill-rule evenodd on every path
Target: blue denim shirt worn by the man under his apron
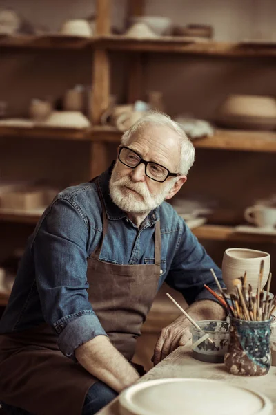
M 169 203 L 152 210 L 138 229 L 109 194 L 110 169 L 99 176 L 106 204 L 108 232 L 99 259 L 112 264 L 153 264 L 155 223 L 161 223 L 161 275 L 191 304 L 214 299 L 204 284 L 216 288 L 221 271 L 184 220 Z M 0 322 L 0 333 L 12 333 L 47 322 L 57 333 L 59 349 L 74 358 L 81 344 L 106 335 L 88 301 L 87 258 L 101 241 L 101 202 L 95 183 L 59 193 L 28 239 L 12 294 Z

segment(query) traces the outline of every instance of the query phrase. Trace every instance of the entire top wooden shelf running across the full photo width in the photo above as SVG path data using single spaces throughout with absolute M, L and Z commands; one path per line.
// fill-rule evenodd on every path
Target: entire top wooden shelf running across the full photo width
M 84 49 L 104 48 L 128 52 L 187 53 L 226 57 L 275 57 L 276 42 L 218 42 L 199 38 L 163 36 L 156 39 L 139 39 L 124 35 L 78 36 L 17 35 L 0 39 L 0 48 L 22 49 Z

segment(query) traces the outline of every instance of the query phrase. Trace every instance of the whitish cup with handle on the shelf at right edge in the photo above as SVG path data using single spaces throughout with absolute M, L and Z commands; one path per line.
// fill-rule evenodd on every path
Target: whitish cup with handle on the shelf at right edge
M 244 218 L 262 228 L 271 229 L 276 225 L 276 208 L 269 206 L 250 206 L 244 212 Z

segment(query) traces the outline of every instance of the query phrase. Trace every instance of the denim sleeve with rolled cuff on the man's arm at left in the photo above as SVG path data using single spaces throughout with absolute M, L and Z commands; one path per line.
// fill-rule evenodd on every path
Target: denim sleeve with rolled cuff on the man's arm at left
M 77 205 L 57 199 L 36 230 L 32 243 L 37 290 L 43 317 L 58 335 L 59 349 L 75 349 L 106 335 L 88 300 L 88 226 Z

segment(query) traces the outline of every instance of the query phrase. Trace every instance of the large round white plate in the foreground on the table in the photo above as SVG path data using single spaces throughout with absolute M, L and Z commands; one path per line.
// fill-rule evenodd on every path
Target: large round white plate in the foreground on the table
M 228 382 L 165 378 L 126 389 L 119 396 L 119 411 L 120 415 L 272 415 L 273 405 L 266 396 Z

